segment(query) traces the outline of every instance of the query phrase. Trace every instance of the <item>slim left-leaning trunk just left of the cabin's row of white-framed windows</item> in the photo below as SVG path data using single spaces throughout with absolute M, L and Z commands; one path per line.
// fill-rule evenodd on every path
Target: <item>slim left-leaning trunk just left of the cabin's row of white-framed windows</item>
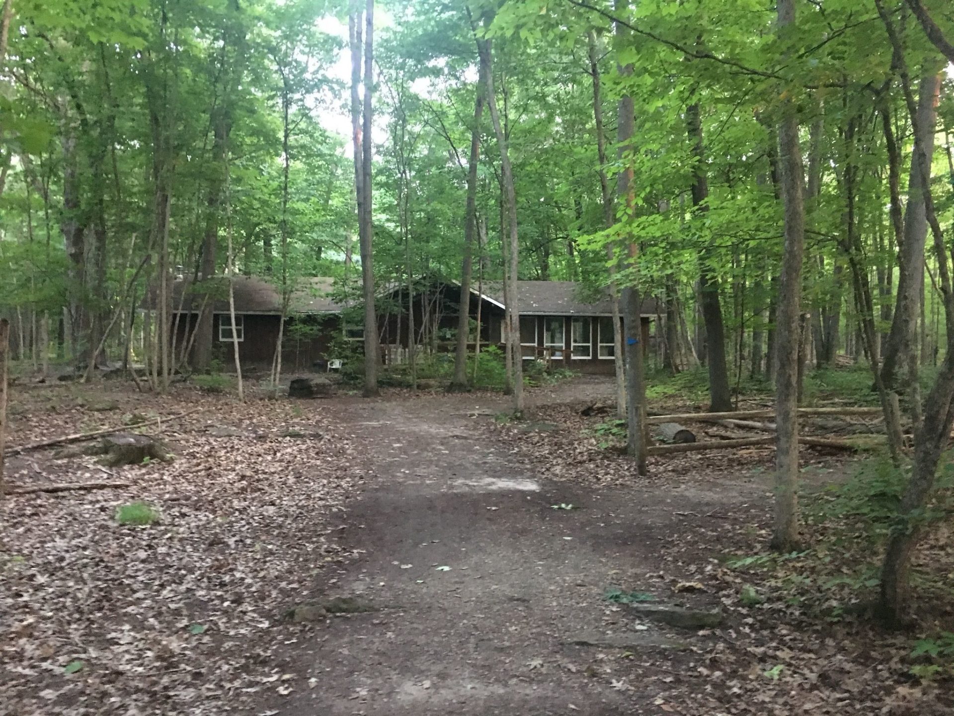
M 510 362 L 513 372 L 513 411 L 521 414 L 524 411 L 524 357 L 520 349 L 520 306 L 517 296 L 517 278 L 520 269 L 520 242 L 517 233 L 517 196 L 513 188 L 513 170 L 510 167 L 510 157 L 507 150 L 507 136 L 497 111 L 497 98 L 493 87 L 493 48 L 490 40 L 477 41 L 478 52 L 482 53 L 482 61 L 486 67 L 487 79 L 487 109 L 493 122 L 493 131 L 497 137 L 497 146 L 500 147 L 500 170 L 504 183 L 504 206 L 506 224 L 508 227 L 508 273 L 507 285 L 509 291 L 507 302 L 507 335 L 510 343 Z

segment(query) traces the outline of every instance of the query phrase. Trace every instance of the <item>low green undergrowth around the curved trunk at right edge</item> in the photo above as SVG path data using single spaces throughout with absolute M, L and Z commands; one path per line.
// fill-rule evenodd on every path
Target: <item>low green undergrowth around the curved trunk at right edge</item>
M 954 554 L 948 530 L 954 524 L 954 464 L 942 460 L 936 487 L 922 511 L 898 516 L 910 467 L 883 458 L 861 461 L 848 479 L 805 498 L 802 535 L 805 549 L 725 555 L 720 561 L 736 572 L 736 601 L 746 608 L 791 610 L 818 620 L 867 619 L 878 599 L 883 547 L 894 529 L 918 524 L 924 529 L 921 559 L 912 571 L 915 603 L 921 606 L 927 633 L 912 641 L 910 673 L 922 680 L 954 679 L 954 634 L 944 614 L 954 602 Z M 948 626 L 949 628 L 949 626 Z

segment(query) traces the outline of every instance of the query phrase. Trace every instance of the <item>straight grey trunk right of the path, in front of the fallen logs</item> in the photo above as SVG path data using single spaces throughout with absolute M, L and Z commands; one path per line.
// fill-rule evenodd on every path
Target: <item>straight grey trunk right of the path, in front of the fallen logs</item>
M 796 25 L 795 0 L 778 0 L 778 32 Z M 778 158 L 785 213 L 785 244 L 778 293 L 778 373 L 776 375 L 776 495 L 772 547 L 791 551 L 798 544 L 798 313 L 805 240 L 804 174 L 798 143 L 798 109 L 781 104 Z

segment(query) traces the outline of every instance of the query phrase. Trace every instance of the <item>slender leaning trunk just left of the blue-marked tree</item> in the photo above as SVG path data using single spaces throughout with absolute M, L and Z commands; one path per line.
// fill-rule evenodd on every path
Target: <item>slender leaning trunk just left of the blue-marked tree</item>
M 608 229 L 616 221 L 612 208 L 610 179 L 606 174 L 606 133 L 603 129 L 603 96 L 599 72 L 599 56 L 596 47 L 596 33 L 587 33 L 587 47 L 590 54 L 590 74 L 593 84 L 593 120 L 596 125 L 596 153 L 599 158 L 599 188 L 603 200 L 603 223 Z M 616 417 L 625 420 L 626 411 L 626 363 L 623 354 L 623 322 L 619 312 L 619 287 L 615 281 L 616 262 L 613 261 L 612 243 L 606 247 L 607 260 L 610 263 L 610 305 L 612 306 L 612 344 L 613 370 L 616 379 Z M 597 356 L 598 357 L 598 356 Z

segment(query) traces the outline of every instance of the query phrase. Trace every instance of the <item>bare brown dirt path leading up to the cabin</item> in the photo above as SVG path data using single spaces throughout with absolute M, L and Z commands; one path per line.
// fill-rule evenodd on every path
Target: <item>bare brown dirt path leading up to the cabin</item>
M 268 705 L 328 716 L 672 712 L 658 689 L 614 680 L 606 649 L 571 642 L 594 633 L 641 640 L 636 658 L 652 655 L 665 670 L 668 652 L 648 642 L 669 635 L 634 632 L 601 595 L 659 572 L 660 545 L 679 529 L 673 500 L 704 514 L 719 496 L 551 483 L 475 431 L 487 417 L 467 407 L 506 403 L 432 396 L 332 408 L 363 442 L 376 482 L 350 505 L 342 536 L 364 558 L 317 596 L 361 595 L 380 610 L 301 627 L 282 667 L 313 685 Z M 734 500 L 761 492 L 737 488 Z M 560 503 L 574 509 L 551 507 Z

